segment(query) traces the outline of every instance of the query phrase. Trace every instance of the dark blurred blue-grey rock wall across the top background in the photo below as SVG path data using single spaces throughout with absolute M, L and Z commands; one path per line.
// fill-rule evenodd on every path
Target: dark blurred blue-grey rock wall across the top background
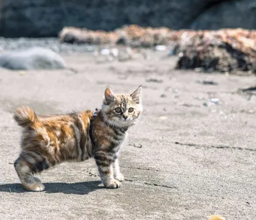
M 2 0 L 0 4 L 0 31 L 5 37 L 57 36 L 65 26 L 105 31 L 126 24 L 172 29 L 256 28 L 254 0 Z M 65 37 L 65 41 L 74 40 L 72 35 Z

